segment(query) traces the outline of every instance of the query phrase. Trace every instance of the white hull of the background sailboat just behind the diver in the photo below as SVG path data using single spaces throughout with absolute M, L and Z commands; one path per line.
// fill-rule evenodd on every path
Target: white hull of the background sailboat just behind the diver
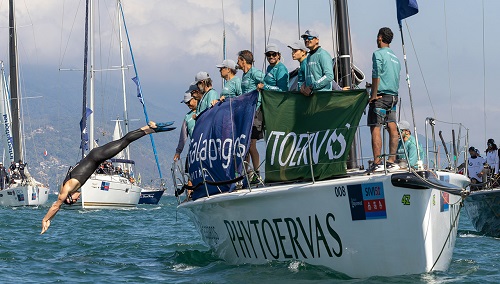
M 74 206 L 84 209 L 136 207 L 141 188 L 117 175 L 94 174 L 81 188 L 81 198 Z

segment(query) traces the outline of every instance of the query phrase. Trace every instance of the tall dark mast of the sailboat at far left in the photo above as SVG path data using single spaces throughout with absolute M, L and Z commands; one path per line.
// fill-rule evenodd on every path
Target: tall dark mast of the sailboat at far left
M 17 71 L 17 33 L 14 18 L 14 0 L 9 0 L 9 64 L 10 64 L 10 97 L 12 112 L 12 137 L 14 140 L 14 160 L 23 158 L 23 143 L 21 135 L 21 116 L 19 111 L 19 82 Z

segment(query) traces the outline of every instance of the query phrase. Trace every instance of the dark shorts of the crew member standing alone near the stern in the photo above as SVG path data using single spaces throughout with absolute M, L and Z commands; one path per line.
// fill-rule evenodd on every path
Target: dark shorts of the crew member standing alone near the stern
M 396 122 L 398 96 L 381 95 L 380 99 L 370 103 L 367 119 L 368 126 L 381 126 L 385 122 Z

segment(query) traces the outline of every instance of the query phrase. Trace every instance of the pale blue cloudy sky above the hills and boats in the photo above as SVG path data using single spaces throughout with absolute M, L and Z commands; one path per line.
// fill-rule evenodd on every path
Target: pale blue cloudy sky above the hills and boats
M 81 76 L 69 76 L 57 70 L 81 68 L 83 2 L 16 1 L 22 68 L 31 68 L 40 74 L 58 74 L 62 79 L 55 80 L 57 83 L 54 84 L 60 85 L 54 95 L 74 95 L 75 100 L 79 98 L 79 92 L 65 90 L 66 84 L 60 82 L 75 80 L 75 84 L 78 84 Z M 99 2 L 102 20 L 98 27 L 103 34 L 99 48 L 104 50 L 111 42 L 109 38 L 112 32 L 106 25 L 112 19 L 114 1 Z M 255 66 L 262 68 L 265 46 L 264 1 L 254 2 Z M 269 32 L 275 1 L 267 0 L 265 3 L 266 31 Z M 7 4 L 8 1 L 0 0 L 0 60 L 8 59 Z M 350 0 L 348 4 L 354 63 L 370 81 L 371 54 L 376 48 L 375 37 L 380 27 L 393 29 L 395 38 L 391 47 L 403 61 L 395 1 Z M 329 5 L 327 0 L 300 1 L 300 30 L 318 31 L 321 45 L 333 54 Z M 223 7 L 225 24 L 222 21 Z M 479 149 L 485 148 L 488 138 L 500 142 L 496 127 L 496 121 L 500 119 L 500 102 L 496 99 L 498 71 L 495 68 L 499 62 L 496 51 L 500 49 L 496 39 L 500 19 L 495 14 L 500 10 L 500 2 L 421 0 L 419 7 L 420 12 L 406 21 L 413 42 L 404 26 L 419 133 L 424 133 L 425 118 L 435 117 L 442 121 L 463 123 L 470 129 L 471 145 Z M 179 101 L 198 71 L 209 72 L 214 78 L 215 88 L 220 90 L 221 81 L 215 65 L 223 59 L 224 27 L 228 58 L 235 59 L 239 50 L 250 49 L 250 1 L 125 0 L 124 9 L 146 102 L 159 108 L 169 119 L 181 121 L 187 109 Z M 297 1 L 276 1 L 270 42 L 278 44 L 283 62 L 289 70 L 298 66 L 292 61 L 286 47 L 298 39 L 297 19 Z M 106 52 L 102 54 L 99 65 L 118 64 L 109 60 L 105 56 Z M 241 71 L 238 75 L 241 76 Z M 404 73 L 401 78 L 401 117 L 411 122 Z M 28 92 L 47 95 L 43 93 L 43 88 L 31 86 L 28 80 L 23 88 Z M 79 108 L 78 105 L 77 113 Z M 364 122 L 363 118 L 362 124 Z M 443 132 L 446 139 L 451 139 L 448 126 L 443 126 Z M 172 145 L 173 148 L 175 145 Z

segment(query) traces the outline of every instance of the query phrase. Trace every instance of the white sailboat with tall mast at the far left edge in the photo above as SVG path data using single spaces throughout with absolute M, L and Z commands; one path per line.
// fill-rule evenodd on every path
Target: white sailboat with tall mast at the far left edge
M 23 144 L 22 115 L 20 113 L 21 92 L 19 91 L 19 72 L 17 58 L 17 33 L 15 23 L 14 1 L 9 1 L 9 55 L 10 55 L 10 88 L 7 87 L 5 73 L 1 68 L 1 108 L 2 128 L 4 136 L 4 151 L 8 158 L 4 163 L 26 163 L 26 151 Z M 10 96 L 9 96 L 10 90 Z M 11 132 L 12 130 L 12 132 Z M 12 136 L 11 136 L 12 134 Z M 22 162 L 20 162 L 22 161 Z M 7 165 L 7 166 L 8 166 Z M 27 164 L 24 173 L 13 174 L 10 183 L 0 190 L 0 205 L 2 206 L 38 206 L 47 202 L 49 189 L 37 182 L 29 174 Z M 22 165 L 21 165 L 22 167 Z M 17 171 L 17 169 L 16 169 Z

